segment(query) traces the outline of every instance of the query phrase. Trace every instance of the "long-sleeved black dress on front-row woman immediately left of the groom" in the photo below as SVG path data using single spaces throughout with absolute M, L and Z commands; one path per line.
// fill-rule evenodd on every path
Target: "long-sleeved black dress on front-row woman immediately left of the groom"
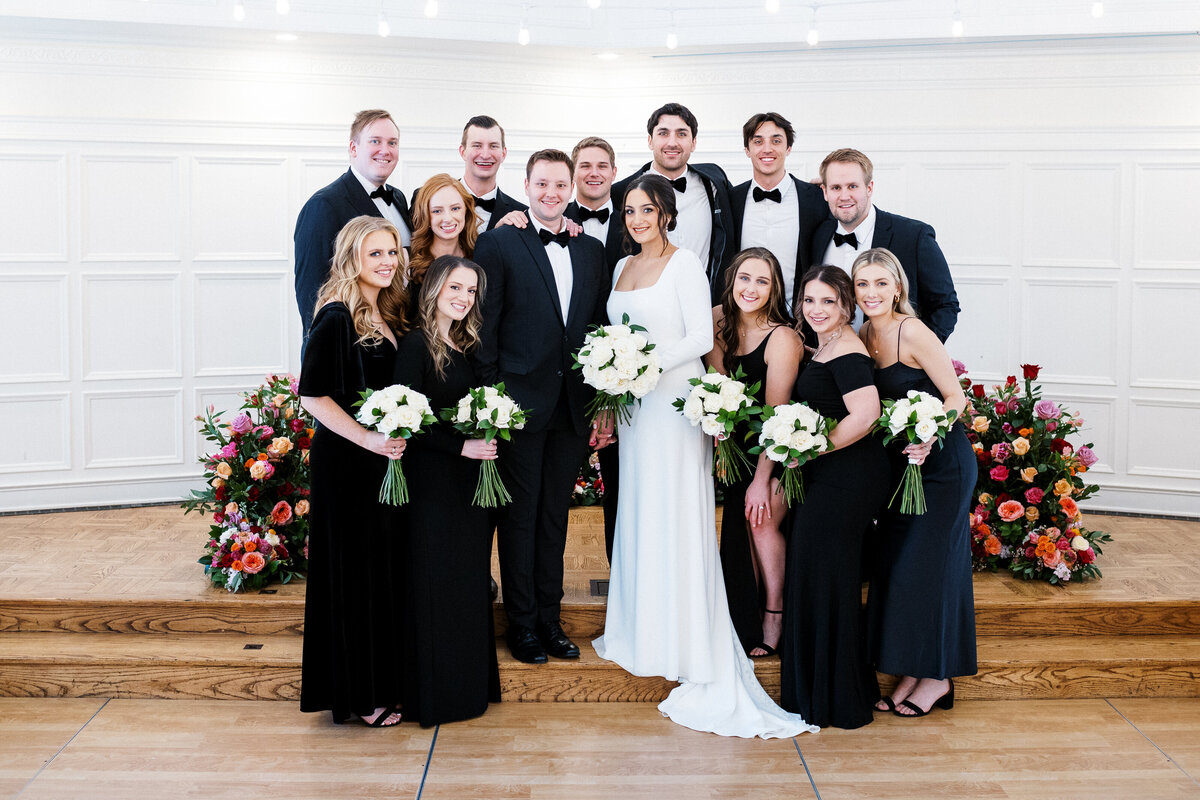
M 450 351 L 438 377 L 425 335 L 400 343 L 396 383 L 430 398 L 434 414 L 455 408 L 482 383 L 470 360 Z M 408 440 L 403 509 L 408 547 L 404 714 L 425 727 L 476 717 L 500 699 L 488 572 L 492 525 L 472 505 L 482 462 L 462 456 L 466 437 L 438 421 Z

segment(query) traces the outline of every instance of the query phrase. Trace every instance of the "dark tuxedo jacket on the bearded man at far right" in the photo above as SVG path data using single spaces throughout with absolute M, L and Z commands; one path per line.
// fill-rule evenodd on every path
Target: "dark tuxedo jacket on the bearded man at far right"
M 812 237 L 812 263 L 824 260 L 826 249 L 838 222 L 827 219 Z M 954 293 L 950 266 L 937 246 L 934 229 L 919 219 L 910 219 L 882 209 L 875 209 L 875 235 L 871 247 L 887 247 L 904 267 L 908 278 L 908 301 L 922 321 L 942 342 L 954 332 L 959 319 L 959 297 Z

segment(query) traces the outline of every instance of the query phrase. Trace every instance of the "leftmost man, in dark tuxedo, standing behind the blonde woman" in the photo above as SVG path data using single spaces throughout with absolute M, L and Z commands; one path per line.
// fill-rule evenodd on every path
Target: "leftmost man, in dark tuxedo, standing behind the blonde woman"
M 388 186 L 400 161 L 400 130 L 382 109 L 359 112 L 350 125 L 350 167 L 300 209 L 295 229 L 295 289 L 305 337 L 312 325 L 317 291 L 329 277 L 334 240 L 359 216 L 385 217 L 400 229 L 401 246 L 412 240 L 413 222 L 404 193 Z

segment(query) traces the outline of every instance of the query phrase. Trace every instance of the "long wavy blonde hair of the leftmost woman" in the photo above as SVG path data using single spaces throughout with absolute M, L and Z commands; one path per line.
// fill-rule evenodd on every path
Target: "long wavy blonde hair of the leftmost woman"
M 401 279 L 404 251 L 400 247 L 400 231 L 383 217 L 361 216 L 346 223 L 334 242 L 334 258 L 330 260 L 329 277 L 317 293 L 317 308 L 330 302 L 344 303 L 354 320 L 354 332 L 359 335 L 359 344 L 376 345 L 384 336 L 371 321 L 373 308 L 362 295 L 359 287 L 359 273 L 362 271 L 362 243 L 371 234 L 385 230 L 396 241 L 398 263 L 391 276 L 391 284 L 379 290 L 376 302 L 379 315 L 396 336 L 408 330 L 408 293 Z M 314 312 L 316 313 L 316 312 Z

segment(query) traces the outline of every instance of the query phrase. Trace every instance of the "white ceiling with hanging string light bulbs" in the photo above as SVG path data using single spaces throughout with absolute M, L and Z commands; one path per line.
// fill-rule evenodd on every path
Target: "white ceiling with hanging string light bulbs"
M 593 0 L 594 1 L 594 0 Z M 29 31 L 78 32 L 148 30 L 167 25 L 211 32 L 241 31 L 236 38 L 295 34 L 310 42 L 378 46 L 380 14 L 391 37 L 516 44 L 522 23 L 528 50 L 568 47 L 599 53 L 695 55 L 787 47 L 805 49 L 815 26 L 815 49 L 863 46 L 901 47 L 954 41 L 955 14 L 967 42 L 1024 38 L 1196 36 L 1200 0 L 241 0 L 245 19 L 235 20 L 238 0 L 0 0 L 0 26 Z M 1096 16 L 1094 6 L 1103 6 Z M 5 18 L 8 18 L 7 20 Z M 19 19 L 18 19 L 19 18 Z M 108 25 L 97 25 L 108 23 Z M 668 50 L 670 32 L 678 49 Z M 0 34 L 2 35 L 2 34 Z

